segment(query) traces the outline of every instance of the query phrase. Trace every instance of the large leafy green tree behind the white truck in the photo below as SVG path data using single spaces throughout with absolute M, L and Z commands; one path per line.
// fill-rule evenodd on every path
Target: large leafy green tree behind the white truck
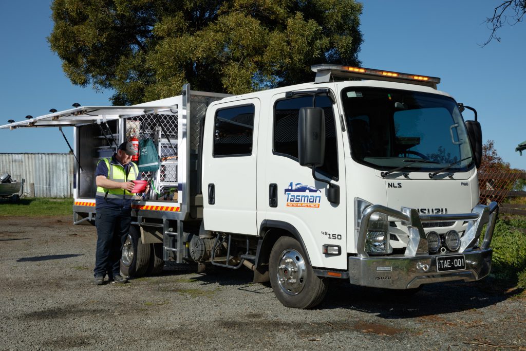
M 48 41 L 74 84 L 116 105 L 242 94 L 312 81 L 310 65 L 359 65 L 355 0 L 54 0 Z

